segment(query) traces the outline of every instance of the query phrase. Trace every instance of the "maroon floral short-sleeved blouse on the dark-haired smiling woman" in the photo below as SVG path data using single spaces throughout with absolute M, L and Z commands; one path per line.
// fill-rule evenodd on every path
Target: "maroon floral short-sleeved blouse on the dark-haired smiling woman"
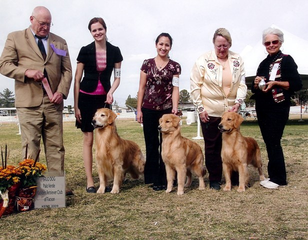
M 162 69 L 158 69 L 154 58 L 143 61 L 141 71 L 146 73 L 146 85 L 142 107 L 164 110 L 172 107 L 172 77 L 180 74 L 179 63 L 169 59 Z

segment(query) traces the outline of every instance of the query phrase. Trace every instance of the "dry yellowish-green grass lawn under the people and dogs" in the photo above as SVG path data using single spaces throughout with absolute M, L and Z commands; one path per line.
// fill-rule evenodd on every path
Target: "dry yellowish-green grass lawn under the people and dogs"
M 250 185 L 243 193 L 208 188 L 198 190 L 197 178 L 184 194 L 153 191 L 143 178 L 125 180 L 119 194 L 85 192 L 82 133 L 64 122 L 65 171 L 68 196 L 65 208 L 34 209 L 3 216 L 0 239 L 308 239 L 308 120 L 291 116 L 282 138 L 288 185 L 263 188 L 257 170 L 249 167 Z M 133 120 L 117 120 L 121 137 L 135 141 L 145 153 L 142 127 Z M 196 136 L 196 123 L 182 135 Z M 9 164 L 21 160 L 20 135 L 15 124 L 0 125 L 0 145 L 8 145 Z M 256 121 L 249 119 L 241 132 L 259 143 L 267 176 L 267 155 Z M 203 140 L 196 140 L 204 151 Z M 93 150 L 94 152 L 94 150 Z M 43 150 L 41 162 L 45 162 Z M 98 175 L 93 163 L 95 186 Z M 223 185 L 222 185 L 223 186 Z

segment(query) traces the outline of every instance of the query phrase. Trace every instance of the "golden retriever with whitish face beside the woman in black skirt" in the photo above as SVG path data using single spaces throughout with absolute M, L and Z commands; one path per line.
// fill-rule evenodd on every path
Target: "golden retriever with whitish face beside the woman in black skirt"
M 112 178 L 111 193 L 118 193 L 127 172 L 132 178 L 138 178 L 144 171 L 145 160 L 140 147 L 117 134 L 114 122 L 116 116 L 112 110 L 100 108 L 92 119 L 99 176 L 97 193 L 104 193 L 107 181 Z

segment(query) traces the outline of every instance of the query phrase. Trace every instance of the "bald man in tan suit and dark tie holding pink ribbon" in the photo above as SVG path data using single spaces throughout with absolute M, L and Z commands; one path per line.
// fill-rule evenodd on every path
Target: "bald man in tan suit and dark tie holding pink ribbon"
M 72 73 L 66 41 L 49 32 L 51 14 L 43 6 L 33 9 L 31 25 L 8 34 L 0 57 L 0 73 L 15 79 L 15 106 L 19 118 L 22 156 L 35 157 L 42 138 L 49 172 L 64 171 L 62 138 L 63 98 Z M 42 79 L 53 96 L 49 99 Z

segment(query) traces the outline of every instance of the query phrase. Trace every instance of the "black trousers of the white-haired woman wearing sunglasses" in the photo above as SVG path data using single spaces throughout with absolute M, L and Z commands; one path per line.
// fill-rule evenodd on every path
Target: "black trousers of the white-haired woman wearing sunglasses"
M 270 181 L 279 185 L 286 185 L 286 170 L 280 140 L 289 110 L 289 106 L 281 106 L 279 103 L 274 106 L 256 105 L 255 107 L 257 121 L 268 155 L 268 177 Z

